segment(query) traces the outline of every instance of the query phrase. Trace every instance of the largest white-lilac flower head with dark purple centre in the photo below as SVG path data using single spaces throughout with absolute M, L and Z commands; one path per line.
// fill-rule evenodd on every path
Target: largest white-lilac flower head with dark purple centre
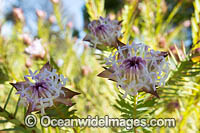
M 124 98 L 139 91 L 159 97 L 156 89 L 165 84 L 169 73 L 167 55 L 167 52 L 154 51 L 145 44 L 127 44 L 118 47 L 107 58 L 109 68 L 98 76 L 117 82 L 117 86 L 125 90 Z

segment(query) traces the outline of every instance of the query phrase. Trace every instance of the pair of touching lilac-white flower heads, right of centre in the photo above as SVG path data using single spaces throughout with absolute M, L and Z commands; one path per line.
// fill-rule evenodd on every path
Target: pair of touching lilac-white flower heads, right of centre
M 89 26 L 91 33 L 84 38 L 93 45 L 116 48 L 107 60 L 107 67 L 98 76 L 117 82 L 125 90 L 124 98 L 139 91 L 159 97 L 156 89 L 165 84 L 169 73 L 167 52 L 155 51 L 142 43 L 123 44 L 119 41 L 121 22 L 100 17 Z M 102 49 L 103 50 L 103 49 Z

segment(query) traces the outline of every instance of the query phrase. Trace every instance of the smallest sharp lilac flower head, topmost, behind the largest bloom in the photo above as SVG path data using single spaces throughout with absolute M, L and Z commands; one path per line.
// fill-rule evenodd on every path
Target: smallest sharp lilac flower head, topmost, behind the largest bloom
M 87 34 L 83 40 L 94 44 L 94 47 L 99 49 L 105 46 L 117 48 L 121 44 L 118 40 L 122 36 L 121 22 L 100 17 L 99 20 L 94 20 L 88 25 L 91 33 Z M 99 46 L 101 44 L 104 45 L 101 47 Z

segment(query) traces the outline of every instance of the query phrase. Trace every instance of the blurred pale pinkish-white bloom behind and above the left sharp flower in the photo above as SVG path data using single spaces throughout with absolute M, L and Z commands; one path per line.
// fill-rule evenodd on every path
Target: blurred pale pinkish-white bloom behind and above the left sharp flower
M 41 40 L 35 39 L 27 48 L 25 48 L 25 53 L 32 57 L 44 58 L 46 52 L 41 44 Z

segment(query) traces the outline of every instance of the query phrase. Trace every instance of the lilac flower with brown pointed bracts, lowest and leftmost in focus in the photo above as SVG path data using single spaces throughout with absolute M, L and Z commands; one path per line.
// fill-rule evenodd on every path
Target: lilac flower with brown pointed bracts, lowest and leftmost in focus
M 45 109 L 56 103 L 67 106 L 72 104 L 71 98 L 80 93 L 65 88 L 67 78 L 56 74 L 56 69 L 52 69 L 46 63 L 39 73 L 29 70 L 30 75 L 25 75 L 25 81 L 11 83 L 20 95 L 20 103 L 28 106 L 27 114 L 34 111 L 41 111 L 45 114 Z

